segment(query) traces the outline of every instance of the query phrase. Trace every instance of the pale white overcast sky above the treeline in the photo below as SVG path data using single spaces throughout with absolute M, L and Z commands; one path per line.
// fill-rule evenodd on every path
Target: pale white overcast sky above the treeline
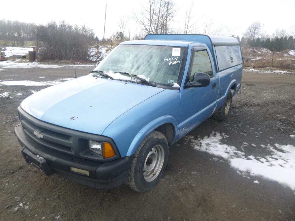
M 183 29 L 186 7 L 191 0 L 174 0 L 177 14 L 171 27 Z M 130 15 L 129 28 L 131 37 L 137 30 L 132 16 L 139 11 L 145 1 L 138 0 L 99 0 L 99 1 L 1 1 L 0 19 L 19 20 L 21 22 L 34 22 L 46 24 L 52 20 L 65 20 L 71 24 L 85 24 L 94 30 L 96 36 L 101 39 L 104 31 L 104 13 L 106 14 L 106 37 L 119 30 L 118 20 L 121 15 Z M 225 25 L 234 30 L 235 35 L 242 36 L 249 24 L 260 21 L 264 24 L 263 31 L 272 34 L 276 28 L 285 29 L 295 25 L 295 0 L 205 0 L 194 1 L 194 13 L 196 18 L 211 18 L 215 25 Z

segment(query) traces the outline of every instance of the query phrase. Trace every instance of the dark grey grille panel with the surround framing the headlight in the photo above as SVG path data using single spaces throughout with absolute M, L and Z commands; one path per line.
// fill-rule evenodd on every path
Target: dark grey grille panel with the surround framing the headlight
M 92 161 L 111 161 L 121 157 L 116 144 L 109 137 L 76 131 L 40 121 L 25 112 L 21 107 L 18 108 L 18 111 L 19 121 L 24 133 L 41 146 Z M 89 140 L 109 142 L 116 156 L 104 159 L 103 156 L 90 151 L 88 149 Z

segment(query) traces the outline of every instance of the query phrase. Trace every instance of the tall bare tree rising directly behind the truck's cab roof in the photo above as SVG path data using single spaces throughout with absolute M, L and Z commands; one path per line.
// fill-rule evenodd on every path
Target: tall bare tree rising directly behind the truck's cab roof
M 175 12 L 173 0 L 149 0 L 135 20 L 145 34 L 166 34 Z

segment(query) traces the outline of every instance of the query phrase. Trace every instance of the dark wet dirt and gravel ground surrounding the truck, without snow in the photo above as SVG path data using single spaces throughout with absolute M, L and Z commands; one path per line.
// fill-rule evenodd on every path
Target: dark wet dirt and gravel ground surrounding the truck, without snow
M 77 67 L 77 75 L 92 69 Z M 0 80 L 51 81 L 73 73 L 69 68 L 8 69 L 0 72 Z M 195 150 L 188 138 L 218 131 L 229 136 L 226 144 L 237 147 L 243 142 L 294 145 L 289 136 L 295 131 L 294 74 L 245 70 L 229 118 L 209 118 L 172 145 L 165 176 L 142 194 L 125 184 L 100 190 L 56 175 L 46 177 L 24 161 L 13 133 L 19 121 L 17 107 L 31 90 L 42 88 L 0 85 L 0 93 L 10 92 L 0 98 L 0 220 L 295 220 L 291 189 L 262 178 L 253 184 L 227 162 Z M 263 154 L 264 149 L 245 151 Z

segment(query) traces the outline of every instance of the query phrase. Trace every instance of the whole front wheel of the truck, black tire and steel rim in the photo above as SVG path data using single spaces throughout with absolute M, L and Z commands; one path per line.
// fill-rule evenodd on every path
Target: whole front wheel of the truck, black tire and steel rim
M 132 160 L 128 185 L 145 192 L 159 182 L 168 160 L 168 143 L 163 133 L 152 131 L 138 146 Z

